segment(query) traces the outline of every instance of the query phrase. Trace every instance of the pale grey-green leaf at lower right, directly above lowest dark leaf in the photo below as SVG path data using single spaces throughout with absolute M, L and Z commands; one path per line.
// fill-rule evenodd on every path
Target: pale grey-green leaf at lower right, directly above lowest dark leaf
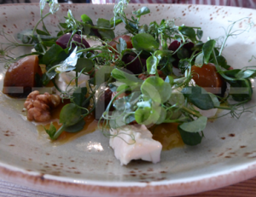
M 207 126 L 207 117 L 201 116 L 198 119 L 195 119 L 194 121 L 183 123 L 182 125 L 179 125 L 179 127 L 187 132 L 200 132 L 204 130 Z

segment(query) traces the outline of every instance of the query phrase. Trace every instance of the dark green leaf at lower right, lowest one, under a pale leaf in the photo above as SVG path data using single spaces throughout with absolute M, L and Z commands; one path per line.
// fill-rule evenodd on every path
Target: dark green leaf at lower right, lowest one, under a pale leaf
M 201 143 L 202 136 L 198 132 L 196 133 L 191 133 L 184 131 L 180 128 L 180 126 L 177 126 L 177 130 L 180 133 L 180 136 L 183 139 L 183 142 L 189 146 L 195 146 L 197 144 Z

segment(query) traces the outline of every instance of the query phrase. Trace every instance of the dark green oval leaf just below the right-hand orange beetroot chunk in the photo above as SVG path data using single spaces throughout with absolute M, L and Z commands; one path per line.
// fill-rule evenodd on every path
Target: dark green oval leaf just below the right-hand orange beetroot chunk
M 207 110 L 214 107 L 211 96 L 199 86 L 185 87 L 182 93 L 193 105 L 200 109 Z

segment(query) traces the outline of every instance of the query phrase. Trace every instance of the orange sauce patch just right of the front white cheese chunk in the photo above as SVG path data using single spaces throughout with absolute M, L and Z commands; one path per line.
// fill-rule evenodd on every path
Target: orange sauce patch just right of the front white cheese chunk
M 153 134 L 153 139 L 162 144 L 163 150 L 184 146 L 182 137 L 177 130 L 177 125 L 177 123 L 163 123 L 161 125 L 153 125 L 149 128 Z

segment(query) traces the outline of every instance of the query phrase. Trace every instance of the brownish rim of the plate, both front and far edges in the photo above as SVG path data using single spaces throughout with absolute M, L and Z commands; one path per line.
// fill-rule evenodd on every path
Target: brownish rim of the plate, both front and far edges
M 29 3 L 29 5 L 38 5 L 39 3 Z M 81 3 L 73 3 L 74 5 L 80 5 Z M 83 3 L 86 5 L 93 5 L 99 6 L 101 4 L 88 4 Z M 108 3 L 108 7 L 112 7 L 114 3 Z M 138 3 L 131 3 L 131 4 L 138 4 Z M 140 3 L 145 6 L 150 5 L 170 5 L 168 3 Z M 27 3 L 12 3 L 12 4 L 2 4 L 0 7 L 6 6 L 24 6 Z M 61 3 L 61 6 L 68 5 L 68 3 Z M 200 6 L 200 7 L 224 7 L 227 8 L 229 6 L 218 6 L 218 5 L 197 5 L 197 4 L 172 4 L 172 6 Z M 247 9 L 247 8 L 238 8 L 232 7 L 232 9 Z M 254 12 L 255 10 L 252 9 Z M 152 183 L 139 183 L 139 182 L 132 182 L 137 184 L 129 185 L 127 182 L 126 185 L 114 185 L 113 186 L 103 185 L 103 184 L 91 184 L 90 182 L 85 183 L 87 181 L 79 180 L 75 182 L 73 178 L 66 178 L 66 177 L 57 177 L 57 176 L 47 176 L 42 173 L 36 171 L 26 171 L 22 168 L 14 167 L 14 165 L 6 165 L 0 162 L 0 176 L 3 180 L 9 181 L 11 183 L 20 184 L 22 186 L 26 186 L 28 188 L 37 188 L 38 190 L 44 190 L 47 188 L 48 191 L 56 193 L 56 194 L 71 194 L 71 195 L 90 195 L 90 196 L 99 196 L 99 194 L 104 196 L 119 196 L 120 194 L 123 195 L 133 195 L 133 196 L 177 196 L 177 195 L 184 195 L 184 194 L 195 194 L 200 193 L 216 188 L 223 188 L 229 186 L 231 184 L 239 183 L 245 181 L 249 178 L 256 176 L 256 160 L 252 161 L 250 164 L 244 164 L 244 168 L 235 171 L 229 171 L 224 174 L 215 175 L 212 177 L 202 177 L 195 181 L 187 181 L 187 182 L 177 182 L 177 183 L 170 183 L 172 181 L 160 181 Z M 38 173 L 38 175 L 37 175 Z M 51 177 L 51 178 L 50 178 Z M 63 181 L 70 179 L 70 182 Z M 73 179 L 73 182 L 72 182 Z M 183 180 L 183 178 L 181 179 Z M 101 182 L 96 182 L 101 183 Z M 198 187 L 200 185 L 200 187 Z M 64 189 L 65 188 L 65 191 Z M 149 192 L 150 194 L 149 194 Z

